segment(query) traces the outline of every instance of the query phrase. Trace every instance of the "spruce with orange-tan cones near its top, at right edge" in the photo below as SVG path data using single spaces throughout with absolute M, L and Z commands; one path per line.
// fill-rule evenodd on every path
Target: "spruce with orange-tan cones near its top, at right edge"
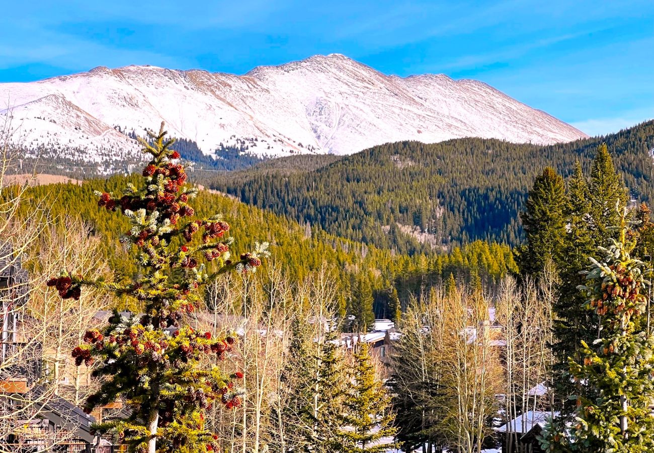
M 644 328 L 651 274 L 632 258 L 627 240 L 627 209 L 619 240 L 600 248 L 601 261 L 591 259 L 586 273 L 584 307 L 596 317 L 599 333 L 589 331 L 577 355 L 570 358 L 570 374 L 580 388 L 572 426 L 549 426 L 544 444 L 548 451 L 642 453 L 654 450 L 654 336 Z M 557 431 L 559 429 L 559 431 Z

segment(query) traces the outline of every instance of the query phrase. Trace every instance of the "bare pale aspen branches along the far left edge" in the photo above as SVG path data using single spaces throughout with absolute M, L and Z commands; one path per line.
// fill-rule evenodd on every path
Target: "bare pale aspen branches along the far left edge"
M 43 367 L 44 351 L 53 342 L 63 344 L 75 326 L 64 323 L 58 328 L 50 316 L 39 316 L 43 280 L 33 263 L 43 248 L 39 237 L 53 222 L 44 206 L 28 198 L 29 177 L 14 184 L 18 180 L 12 175 L 20 170 L 17 155 L 23 151 L 11 115 L 6 115 L 0 126 L 0 275 L 5 282 L 0 288 L 0 439 L 12 435 L 13 440 L 2 444 L 3 453 L 24 450 L 27 439 L 34 436 L 26 437 L 26 430 L 39 431 L 29 441 L 29 449 L 35 453 L 71 441 L 75 431 L 74 426 L 56 432 L 40 429 L 48 405 L 59 398 L 56 381 Z M 44 251 L 52 247 L 46 246 Z M 48 261 L 46 256 L 38 259 Z M 75 309 L 67 312 L 71 310 Z M 72 420 L 72 413 L 65 410 L 60 416 Z

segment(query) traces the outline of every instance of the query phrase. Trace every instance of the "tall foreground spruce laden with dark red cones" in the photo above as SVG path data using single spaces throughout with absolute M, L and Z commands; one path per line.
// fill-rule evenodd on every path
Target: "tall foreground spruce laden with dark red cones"
M 206 452 L 217 448 L 217 437 L 205 429 L 203 411 L 220 401 L 238 406 L 241 393 L 232 378 L 242 375 L 199 366 L 203 355 L 225 357 L 235 335 L 212 338 L 209 332 L 194 331 L 185 325 L 187 314 L 203 302 L 199 288 L 218 274 L 254 272 L 268 255 L 267 244 L 230 261 L 232 241 L 225 236 L 230 226 L 219 216 L 190 220 L 194 209 L 189 202 L 198 189 L 186 185 L 185 168 L 170 148 L 174 140 L 165 139 L 163 123 L 158 134 L 148 134 L 150 142 L 140 139 L 143 152 L 151 156 L 140 187 L 129 184 L 116 195 L 97 192 L 99 206 L 129 219 L 131 229 L 120 242 L 137 249 L 139 276 L 129 283 L 109 283 L 64 270 L 48 286 L 64 299 L 78 299 L 82 287 L 95 287 L 144 308 L 142 316 L 131 319 L 114 312 L 107 327 L 86 332 L 84 343 L 73 350 L 77 365 L 97 361 L 93 374 L 101 378 L 84 410 L 118 400 L 129 409 L 126 418 L 96 426 L 97 433 L 111 434 L 130 452 Z M 198 233 L 201 240 L 194 240 Z M 212 261 L 215 272 L 207 272 L 201 260 Z

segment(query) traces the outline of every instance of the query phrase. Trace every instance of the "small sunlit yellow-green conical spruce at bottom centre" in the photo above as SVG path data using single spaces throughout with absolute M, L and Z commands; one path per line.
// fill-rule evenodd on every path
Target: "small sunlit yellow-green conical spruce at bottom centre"
M 349 372 L 351 386 L 345 393 L 341 427 L 337 431 L 337 451 L 343 453 L 384 453 L 395 448 L 397 429 L 392 426 L 390 395 L 375 375 L 367 343 L 358 346 Z M 386 439 L 385 439 L 386 438 Z

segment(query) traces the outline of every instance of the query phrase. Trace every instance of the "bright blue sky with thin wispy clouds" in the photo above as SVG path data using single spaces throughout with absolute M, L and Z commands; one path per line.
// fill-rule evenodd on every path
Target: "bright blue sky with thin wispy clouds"
M 654 2 L 3 2 L 0 82 L 105 65 L 245 73 L 338 52 L 477 79 L 589 134 L 654 118 Z

